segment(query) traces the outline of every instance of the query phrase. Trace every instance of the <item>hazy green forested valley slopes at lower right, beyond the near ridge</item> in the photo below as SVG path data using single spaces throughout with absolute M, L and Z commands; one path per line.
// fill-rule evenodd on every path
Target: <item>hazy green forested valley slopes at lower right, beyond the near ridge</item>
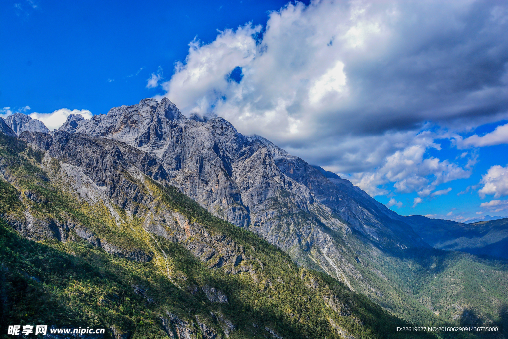
M 291 223 L 310 229 L 319 224 L 304 213 L 292 214 L 291 202 L 283 198 L 280 195 L 268 200 L 272 211 L 283 213 L 274 217 L 280 221 L 279 230 L 291 227 Z M 436 249 L 380 248 L 371 246 L 355 230 L 352 234 L 324 230 L 340 256 L 352 264 L 344 274 L 347 283 L 392 314 L 425 326 L 503 324 L 508 328 L 506 261 Z M 316 264 L 324 259 L 323 244 L 303 242 L 294 247 L 288 251 L 294 261 L 343 281 L 332 265 Z

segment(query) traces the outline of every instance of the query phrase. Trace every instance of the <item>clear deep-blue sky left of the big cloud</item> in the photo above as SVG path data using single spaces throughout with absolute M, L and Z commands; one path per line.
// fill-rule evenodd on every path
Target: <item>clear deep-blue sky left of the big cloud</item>
M 285 3 L 3 1 L 0 102 L 93 113 L 136 104 L 156 93 L 145 86 L 158 67 L 171 77 L 190 41 L 212 41 L 217 29 L 249 21 L 266 23 L 267 11 Z

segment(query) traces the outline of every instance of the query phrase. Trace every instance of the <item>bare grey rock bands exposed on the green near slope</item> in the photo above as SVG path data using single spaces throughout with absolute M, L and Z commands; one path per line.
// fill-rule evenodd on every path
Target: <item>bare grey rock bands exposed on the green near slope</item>
M 155 195 L 144 183 L 146 177 L 167 185 L 168 174 L 149 153 L 115 140 L 90 137 L 82 133 L 57 131 L 50 136 L 47 133 L 23 132 L 20 138 L 58 160 L 61 163 L 61 174 L 69 177 L 67 181 L 70 187 L 84 197 L 87 203 L 94 204 L 99 199 L 105 204 L 111 201 L 131 215 L 145 220 L 142 226 L 147 232 L 181 243 L 209 267 L 225 267 L 229 273 L 251 270 L 251 265 L 245 262 L 241 265 L 248 257 L 237 243 L 224 235 L 210 234 L 203 225 L 189 222 L 181 214 L 166 210 L 160 201 L 155 200 Z M 108 207 L 110 213 L 119 219 L 114 208 Z M 160 212 L 153 213 L 153 210 Z M 150 261 L 153 257 L 149 251 L 126 251 L 83 227 L 60 224 L 50 227 L 50 223 L 55 221 L 36 221 L 37 228 L 28 229 L 30 221 L 18 222 L 19 225 L 13 227 L 31 238 L 49 237 L 59 240 L 68 237 L 66 231 L 73 229 L 79 237 L 117 256 L 138 261 Z M 41 228 L 47 231 L 43 233 Z M 60 236 L 60 233 L 65 235 Z M 226 295 L 213 287 L 207 291 L 214 301 L 228 300 Z

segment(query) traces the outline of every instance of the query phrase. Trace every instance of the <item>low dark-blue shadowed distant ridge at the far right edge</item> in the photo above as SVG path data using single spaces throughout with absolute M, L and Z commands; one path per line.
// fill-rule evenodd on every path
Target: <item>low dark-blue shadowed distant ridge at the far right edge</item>
M 407 218 L 414 221 L 413 229 L 436 249 L 508 259 L 508 218 L 473 224 L 427 219 L 418 215 Z

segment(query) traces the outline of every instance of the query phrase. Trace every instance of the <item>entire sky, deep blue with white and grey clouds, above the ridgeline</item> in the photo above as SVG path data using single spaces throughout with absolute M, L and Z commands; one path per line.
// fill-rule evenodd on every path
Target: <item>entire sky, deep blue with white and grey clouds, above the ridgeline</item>
M 508 5 L 0 4 L 0 114 L 147 97 L 230 120 L 403 215 L 508 215 Z

